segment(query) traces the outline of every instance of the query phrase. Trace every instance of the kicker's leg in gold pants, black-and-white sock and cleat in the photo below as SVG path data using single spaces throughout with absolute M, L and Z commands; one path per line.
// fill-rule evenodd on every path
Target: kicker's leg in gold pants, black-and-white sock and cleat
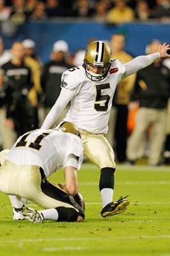
M 102 134 L 94 135 L 89 133 L 86 134 L 86 137 L 84 136 L 83 143 L 85 145 L 86 156 L 101 170 L 99 180 L 103 206 L 101 216 L 106 218 L 125 211 L 129 205 L 129 200 L 124 200 L 121 197 L 121 200 L 113 202 L 116 164 L 113 148 L 111 148 L 110 143 L 108 143 Z

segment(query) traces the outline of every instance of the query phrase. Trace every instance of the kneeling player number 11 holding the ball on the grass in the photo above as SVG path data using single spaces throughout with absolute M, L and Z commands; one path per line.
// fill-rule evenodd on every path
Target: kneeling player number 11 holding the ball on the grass
M 80 135 L 78 129 L 64 122 L 56 129 L 27 132 L 11 150 L 1 151 L 0 191 L 10 195 L 14 220 L 83 221 L 83 209 L 74 200 L 78 193 L 76 170 L 83 161 L 83 143 L 76 135 Z M 66 185 L 55 186 L 46 178 L 61 166 Z M 23 207 L 21 198 L 46 210 Z

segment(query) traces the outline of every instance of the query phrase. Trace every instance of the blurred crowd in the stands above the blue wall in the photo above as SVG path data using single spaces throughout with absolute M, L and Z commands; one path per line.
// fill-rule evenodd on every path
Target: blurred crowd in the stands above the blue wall
M 22 24 L 57 17 L 90 18 L 101 22 L 170 20 L 169 0 L 0 0 L 0 22 Z

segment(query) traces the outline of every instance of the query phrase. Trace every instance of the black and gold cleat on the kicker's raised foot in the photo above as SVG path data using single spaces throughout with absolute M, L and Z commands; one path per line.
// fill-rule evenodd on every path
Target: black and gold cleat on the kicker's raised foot
M 117 202 L 111 202 L 104 206 L 101 211 L 101 216 L 103 218 L 108 218 L 115 214 L 124 212 L 127 209 L 128 205 L 130 204 L 130 201 L 125 199 L 126 197 L 127 196 L 120 196 Z

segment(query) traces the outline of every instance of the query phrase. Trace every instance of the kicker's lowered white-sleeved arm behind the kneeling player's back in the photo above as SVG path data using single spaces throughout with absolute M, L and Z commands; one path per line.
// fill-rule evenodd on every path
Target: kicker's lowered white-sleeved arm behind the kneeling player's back
M 73 97 L 73 93 L 69 90 L 62 88 L 59 98 L 56 100 L 55 104 L 53 105 L 52 109 L 46 116 L 41 129 L 50 129 L 52 125 L 55 123 L 57 118 L 59 118 L 62 110 L 66 108 L 69 100 Z

